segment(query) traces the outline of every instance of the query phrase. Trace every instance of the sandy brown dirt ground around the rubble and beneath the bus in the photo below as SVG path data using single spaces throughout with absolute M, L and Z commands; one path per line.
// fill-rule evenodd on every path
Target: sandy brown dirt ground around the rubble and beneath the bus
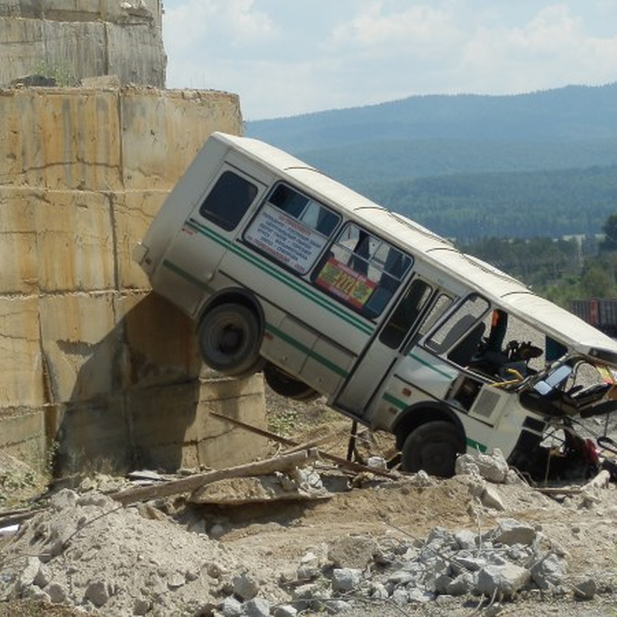
M 328 410 L 320 400 L 290 404 L 268 392 L 267 405 L 272 431 L 303 444 L 321 439 L 321 450 L 346 456 L 350 422 Z M 280 451 L 281 446 L 273 443 L 271 453 Z M 389 458 L 392 452 L 388 436 L 363 433 L 358 439 L 357 455 L 361 460 L 367 460 L 370 455 Z M 229 576 L 236 571 L 252 573 L 259 581 L 260 594 L 270 598 L 275 607 L 286 602 L 281 596 L 284 587 L 281 581 L 291 580 L 307 555 L 324 555 L 328 547 L 342 538 L 368 538 L 378 544 L 412 544 L 422 542 L 435 528 L 486 532 L 504 518 L 531 524 L 544 534 L 551 549 L 565 558 L 568 573 L 559 594 L 535 589 L 524 590 L 510 600 L 497 603 L 481 597 L 444 597 L 439 602 L 404 606 L 358 597 L 342 614 L 387 617 L 617 613 L 615 484 L 585 493 L 580 492 L 580 486 L 571 485 L 568 491 L 554 495 L 545 494 L 540 490 L 542 487 L 519 482 L 497 484 L 494 487 L 503 510 L 494 510 L 483 506 L 474 496 L 468 476 L 429 478 L 421 482 L 408 475 L 389 479 L 371 473 L 344 472 L 325 460 L 317 463 L 315 470 L 320 474 L 326 495 L 284 501 L 247 499 L 239 503 L 234 498 L 242 492 L 243 485 L 236 482 L 218 489 L 218 502 L 225 502 L 225 494 L 230 497 L 226 505 L 187 503 L 183 497 L 176 496 L 149 505 L 118 508 L 96 495 L 124 486 L 123 479 L 102 476 L 82 479 L 79 486 L 73 487 L 74 494 L 91 497 L 78 502 L 81 519 L 73 520 L 72 513 L 79 509 L 75 503 L 71 502 L 70 508 L 63 503 L 50 506 L 46 500 L 49 494 L 40 500 L 45 487 L 37 483 L 39 478 L 19 463 L 0 458 L 0 495 L 4 495 L 4 504 L 0 502 L 4 523 L 0 518 L 0 528 L 6 525 L 7 512 L 16 511 L 19 506 L 41 508 L 35 517 L 23 522 L 17 534 L 0 536 L 0 583 L 6 583 L 4 588 L 0 585 L 3 594 L 0 617 L 216 615 L 217 602 L 227 592 L 222 585 L 197 587 L 202 576 L 199 573 L 204 568 L 208 569 L 210 580 L 218 577 L 217 581 L 222 580 L 222 575 L 212 573 L 213 570 Z M 70 501 L 74 497 L 69 495 L 63 499 Z M 99 511 L 96 508 L 101 514 L 95 516 Z M 54 534 L 56 540 L 62 540 L 56 553 L 53 547 L 49 548 Z M 23 578 L 28 557 L 44 554 L 40 547 L 51 551 L 52 558 L 46 557 L 43 569 L 37 566 L 37 576 L 56 581 L 57 589 L 66 596 L 59 591 L 54 603 L 43 594 L 37 596 L 30 592 L 30 597 L 17 598 L 19 586 L 10 583 L 16 577 Z M 57 565 L 59 560 L 64 565 Z M 197 574 L 189 576 L 191 568 Z M 186 571 L 186 577 L 175 584 L 173 573 L 180 571 Z M 97 582 L 96 576 L 104 582 L 103 587 L 106 586 L 110 596 L 108 600 L 106 595 L 99 607 L 100 602 L 88 591 L 93 581 Z M 167 577 L 164 590 L 159 589 L 157 576 Z M 568 592 L 571 581 L 580 578 L 595 581 L 597 592 L 592 599 L 578 600 Z M 135 589 L 123 589 L 126 585 L 130 587 L 130 581 Z M 50 589 L 49 584 L 46 587 L 38 584 Z M 84 597 L 90 601 L 76 605 L 71 598 L 79 586 L 85 589 Z M 159 598 L 158 602 L 140 599 L 143 594 L 139 595 L 137 589 L 143 592 L 148 587 L 152 592 L 150 597 Z M 176 590 L 179 587 L 185 594 L 184 604 L 178 603 L 180 600 L 167 603 L 167 595 L 180 597 L 180 591 Z M 23 585 L 22 589 L 25 589 Z M 209 602 L 204 603 L 204 594 Z M 197 602 L 198 596 L 201 603 Z M 271 614 L 275 615 L 275 608 Z M 313 613 L 307 610 L 301 614 Z

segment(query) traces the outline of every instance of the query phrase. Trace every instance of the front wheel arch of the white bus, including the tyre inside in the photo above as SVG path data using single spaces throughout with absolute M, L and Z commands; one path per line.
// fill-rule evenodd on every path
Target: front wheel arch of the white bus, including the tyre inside
M 400 462 L 405 471 L 421 469 L 449 478 L 459 454 L 465 453 L 465 430 L 448 408 L 439 404 L 410 408 L 395 429 Z

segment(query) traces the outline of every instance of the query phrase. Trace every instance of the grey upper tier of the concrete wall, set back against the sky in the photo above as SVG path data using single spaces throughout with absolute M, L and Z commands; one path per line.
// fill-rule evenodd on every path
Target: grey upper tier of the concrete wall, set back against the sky
M 2 0 L 0 85 L 35 73 L 165 86 L 161 0 Z

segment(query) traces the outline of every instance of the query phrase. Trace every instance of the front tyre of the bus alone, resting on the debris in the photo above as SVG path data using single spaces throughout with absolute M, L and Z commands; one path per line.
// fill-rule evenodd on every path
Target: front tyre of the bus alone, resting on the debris
M 408 434 L 400 451 L 405 471 L 424 470 L 431 476 L 451 478 L 457 456 L 465 452 L 465 439 L 457 427 L 444 420 L 420 424 Z

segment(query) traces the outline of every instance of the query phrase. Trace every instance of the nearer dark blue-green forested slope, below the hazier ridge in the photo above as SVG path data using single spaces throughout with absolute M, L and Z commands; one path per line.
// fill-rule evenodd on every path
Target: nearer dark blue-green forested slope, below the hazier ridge
M 458 242 L 600 233 L 617 212 L 617 165 L 360 182 L 360 193 Z

